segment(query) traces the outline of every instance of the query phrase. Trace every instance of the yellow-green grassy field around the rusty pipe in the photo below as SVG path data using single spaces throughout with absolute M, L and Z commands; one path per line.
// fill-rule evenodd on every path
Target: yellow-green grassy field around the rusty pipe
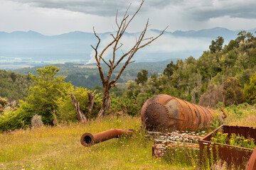
M 225 124 L 254 125 L 254 106 L 225 108 Z M 85 132 L 95 134 L 112 128 L 134 129 L 132 137 L 121 137 L 93 145 L 80 144 Z M 170 164 L 151 156 L 153 141 L 139 118 L 110 116 L 88 123 L 61 124 L 55 127 L 16 130 L 0 134 L 0 169 L 195 169 L 195 166 Z

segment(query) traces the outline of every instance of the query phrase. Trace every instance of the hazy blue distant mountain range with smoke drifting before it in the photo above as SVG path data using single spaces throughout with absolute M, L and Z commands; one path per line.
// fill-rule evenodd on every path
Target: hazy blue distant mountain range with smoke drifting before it
M 255 33 L 256 30 L 247 31 Z M 157 35 L 159 32 L 160 30 L 149 30 L 149 36 Z M 137 62 L 158 62 L 176 58 L 184 59 L 190 55 L 198 58 L 203 51 L 208 50 L 211 40 L 222 36 L 227 44 L 230 40 L 235 39 L 239 32 L 240 30 L 233 31 L 226 28 L 176 30 L 173 33 L 166 31 L 153 45 L 139 51 L 134 59 Z M 110 33 L 99 33 L 98 35 L 102 39 L 103 46 L 111 40 Z M 139 33 L 124 35 L 123 43 L 127 44 L 124 51 L 128 49 L 129 45 L 132 45 L 137 35 Z M 94 54 L 90 45 L 97 45 L 97 38 L 93 33 L 75 31 L 48 36 L 31 30 L 13 33 L 0 32 L 0 65 L 33 66 L 64 62 L 86 63 Z

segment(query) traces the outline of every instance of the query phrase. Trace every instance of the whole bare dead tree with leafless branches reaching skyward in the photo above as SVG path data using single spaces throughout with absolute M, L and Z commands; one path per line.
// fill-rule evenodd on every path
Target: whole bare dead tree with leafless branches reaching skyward
M 142 0 L 142 4 L 143 3 L 144 3 L 144 0 Z M 115 35 L 110 34 L 112 36 L 113 40 L 101 52 L 98 52 L 98 47 L 100 45 L 100 38 L 96 34 L 95 29 L 93 28 L 95 36 L 98 39 L 98 42 L 97 42 L 97 46 L 96 47 L 92 46 L 92 48 L 95 50 L 95 60 L 97 62 L 97 67 L 98 67 L 99 72 L 100 72 L 100 79 L 102 81 L 102 86 L 103 86 L 102 108 L 100 109 L 100 112 L 97 115 L 98 118 L 103 118 L 105 116 L 105 114 L 107 113 L 107 111 L 109 111 L 110 103 L 111 103 L 110 88 L 112 88 L 114 86 L 117 86 L 117 84 L 115 84 L 115 83 L 117 82 L 119 77 L 121 77 L 121 75 L 124 72 L 124 69 L 127 67 L 127 65 L 132 63 L 132 62 L 135 62 L 135 61 L 131 61 L 132 57 L 134 57 L 134 54 L 139 49 L 142 49 L 146 45 L 149 45 L 151 42 L 153 42 L 154 40 L 159 38 L 164 33 L 164 31 L 166 30 L 165 29 L 165 30 L 161 31 L 161 33 L 158 36 L 156 36 L 155 38 L 153 38 L 153 37 L 145 38 L 146 30 L 149 27 L 149 19 L 148 19 L 147 22 L 146 22 L 146 26 L 145 26 L 144 30 L 139 35 L 139 38 L 137 38 L 137 41 L 135 42 L 133 47 L 130 50 L 128 50 L 127 52 L 123 52 L 121 56 L 119 56 L 119 57 L 116 56 L 117 50 L 120 47 L 122 47 L 122 43 L 120 42 L 120 40 L 121 40 L 122 36 L 124 35 L 125 30 L 127 30 L 127 27 L 129 26 L 129 23 L 131 23 L 131 21 L 134 19 L 134 17 L 139 12 L 140 8 L 142 7 L 142 4 L 140 4 L 139 8 L 137 9 L 137 11 L 134 13 L 134 15 L 131 18 L 129 18 L 129 15 L 127 14 L 128 10 L 129 10 L 129 8 L 127 8 L 127 11 L 124 13 L 124 16 L 121 19 L 120 23 L 117 21 L 117 16 L 118 15 L 116 15 L 117 31 L 116 31 Z M 104 55 L 106 50 L 110 47 L 112 47 L 112 52 L 113 52 L 112 53 L 112 60 L 109 60 L 107 62 L 102 56 Z M 111 76 L 112 76 L 112 73 L 113 73 L 114 69 L 116 69 L 117 65 L 120 64 L 123 60 L 125 62 L 123 64 L 122 69 L 120 70 L 119 74 L 117 74 L 117 77 L 115 77 L 114 79 L 111 79 Z M 109 67 L 109 71 L 107 73 L 106 78 L 105 78 L 105 76 L 102 72 L 101 61 L 104 62 L 105 64 L 107 64 L 107 66 Z

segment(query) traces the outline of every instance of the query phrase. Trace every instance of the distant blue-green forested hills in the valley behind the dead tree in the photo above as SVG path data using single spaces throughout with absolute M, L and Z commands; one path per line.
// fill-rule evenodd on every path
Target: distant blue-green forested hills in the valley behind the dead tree
M 174 60 L 175 61 L 175 60 Z M 166 63 L 170 62 L 170 60 L 165 62 L 138 62 L 129 64 L 127 69 L 124 70 L 120 82 L 126 82 L 129 80 L 134 80 L 140 72 L 141 69 L 148 69 L 149 76 L 151 74 L 161 74 L 166 66 Z M 101 80 L 99 71 L 95 64 L 73 64 L 73 63 L 66 63 L 66 64 L 54 64 L 55 67 L 60 68 L 59 74 L 66 74 L 67 78 L 65 79 L 66 82 L 70 82 L 74 86 L 82 86 L 89 89 L 92 89 L 94 86 L 101 86 Z M 16 69 L 14 72 L 18 72 L 20 74 L 37 74 L 36 69 L 42 67 L 33 67 L 33 68 L 23 68 L 23 69 Z M 107 66 L 102 65 L 102 69 L 105 73 L 107 73 Z M 114 70 L 113 74 L 118 74 L 121 67 L 117 67 Z

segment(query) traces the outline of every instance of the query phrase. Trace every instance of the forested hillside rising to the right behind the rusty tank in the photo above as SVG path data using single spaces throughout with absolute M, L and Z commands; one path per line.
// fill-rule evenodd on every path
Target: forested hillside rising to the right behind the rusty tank
M 125 96 L 137 98 L 170 94 L 192 103 L 199 102 L 203 106 L 215 106 L 218 101 L 233 98 L 235 87 L 231 88 L 228 83 L 232 81 L 242 91 L 245 84 L 249 84 L 252 74 L 255 74 L 256 38 L 252 33 L 241 31 L 238 38 L 230 40 L 224 47 L 223 41 L 222 37 L 212 40 L 209 50 L 203 52 L 198 60 L 188 57 L 185 61 L 177 60 L 176 64 L 167 64 L 160 77 L 154 74 L 146 81 L 128 81 Z M 223 85 L 228 87 L 225 89 Z

